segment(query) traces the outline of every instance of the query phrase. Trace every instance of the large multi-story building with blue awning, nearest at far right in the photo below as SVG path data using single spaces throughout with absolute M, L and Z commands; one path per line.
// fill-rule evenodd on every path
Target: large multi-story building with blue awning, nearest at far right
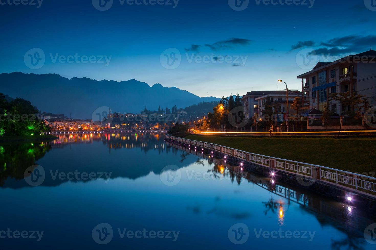
M 332 62 L 319 62 L 309 72 L 297 76 L 302 79 L 303 102 L 310 109 L 324 110 L 325 105 L 335 114 L 345 114 L 354 107 L 329 100 L 329 93 L 362 94 L 376 103 L 376 51 L 349 55 Z M 355 107 L 356 109 L 356 107 Z

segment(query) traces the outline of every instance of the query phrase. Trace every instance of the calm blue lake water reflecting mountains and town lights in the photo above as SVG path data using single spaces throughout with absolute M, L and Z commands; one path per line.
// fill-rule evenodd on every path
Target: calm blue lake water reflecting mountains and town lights
M 192 153 L 158 133 L 1 144 L 1 249 L 376 249 L 356 201 Z

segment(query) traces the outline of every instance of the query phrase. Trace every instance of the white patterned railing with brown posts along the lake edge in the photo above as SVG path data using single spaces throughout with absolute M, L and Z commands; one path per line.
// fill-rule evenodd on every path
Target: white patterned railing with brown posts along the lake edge
M 348 187 L 350 189 L 362 190 L 367 191 L 367 193 L 376 194 L 376 178 L 374 177 L 342 171 L 334 168 L 328 168 L 320 165 L 249 153 L 246 151 L 241 151 L 235 148 L 225 147 L 209 142 L 188 140 L 171 135 L 166 135 L 165 137 L 170 140 L 185 142 L 185 144 L 197 145 L 200 147 L 208 148 L 210 150 L 218 151 L 223 154 L 244 160 L 244 162 L 254 163 L 267 168 L 276 168 L 280 171 L 288 172 L 290 174 L 295 173 L 296 175 L 301 175 L 302 177 L 311 177 L 314 179 L 327 181 L 335 185 Z

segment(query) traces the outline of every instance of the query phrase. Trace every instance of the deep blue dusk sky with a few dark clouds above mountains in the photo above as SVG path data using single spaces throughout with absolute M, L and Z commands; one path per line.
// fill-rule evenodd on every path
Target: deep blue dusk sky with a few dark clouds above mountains
M 290 0 L 290 5 L 289 0 L 246 0 L 243 5 L 236 0 L 238 9 L 235 0 L 154 0 L 155 5 L 153 0 L 112 0 L 102 11 L 94 7 L 99 1 L 105 8 L 111 3 L 33 0 L 16 5 L 17 0 L 0 0 L 1 73 L 134 78 L 221 97 L 276 90 L 277 79 L 299 89 L 296 76 L 318 58 L 335 59 L 371 45 L 376 49 L 374 0 Z M 35 48 L 44 53 L 38 69 L 25 63 Z M 313 49 L 318 56 L 303 64 L 301 55 Z M 82 56 L 92 63 L 83 63 Z

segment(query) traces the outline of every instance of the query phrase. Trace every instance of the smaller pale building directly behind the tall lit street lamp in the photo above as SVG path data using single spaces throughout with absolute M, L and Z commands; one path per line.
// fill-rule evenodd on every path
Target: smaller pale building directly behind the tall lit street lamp
M 264 117 L 264 109 L 265 109 L 265 102 L 267 98 L 270 98 L 271 106 L 276 114 L 284 114 L 287 113 L 287 93 L 285 90 L 271 90 L 271 91 L 264 91 L 265 93 L 260 96 L 256 97 L 256 101 L 258 102 L 258 117 Z M 291 104 L 293 103 L 295 97 L 301 97 L 302 92 L 298 90 L 289 90 L 288 92 L 288 101 L 289 101 L 289 109 L 288 112 L 291 114 Z M 283 117 L 280 117 L 280 120 L 283 120 Z

